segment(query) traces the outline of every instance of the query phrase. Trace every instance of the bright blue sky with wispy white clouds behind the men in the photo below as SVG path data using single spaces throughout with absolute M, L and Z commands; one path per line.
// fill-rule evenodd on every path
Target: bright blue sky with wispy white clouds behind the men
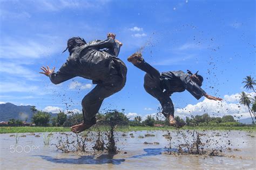
M 174 93 L 176 115 L 248 117 L 237 99 L 246 91 L 242 79 L 255 77 L 254 1 L 0 1 L 0 18 L 1 103 L 53 112 L 68 104 L 68 110 L 80 110 L 91 81 L 74 78 L 53 85 L 39 68 L 58 70 L 68 58 L 62 51 L 70 37 L 89 42 L 114 32 L 124 44 L 119 58 L 127 66 L 127 81 L 102 109 L 124 108 L 129 117 L 157 112 L 158 101 L 143 88 L 144 72 L 126 60 L 146 45 L 145 60 L 160 72 L 199 70 L 203 89 L 225 99 L 219 103 Z

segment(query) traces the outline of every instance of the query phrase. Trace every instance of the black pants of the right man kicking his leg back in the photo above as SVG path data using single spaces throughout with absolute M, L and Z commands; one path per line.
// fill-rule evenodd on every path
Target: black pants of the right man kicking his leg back
M 160 84 L 160 73 L 158 70 L 154 69 L 150 64 L 146 63 L 145 60 L 143 60 L 142 63 L 135 65 L 140 70 L 143 70 L 146 72 L 146 75 L 144 77 L 144 89 L 147 93 L 151 94 L 154 98 L 159 100 L 161 107 L 163 109 L 162 113 L 165 117 L 167 115 L 174 116 L 174 107 L 172 100 L 169 96 L 169 94 L 163 92 L 163 88 Z

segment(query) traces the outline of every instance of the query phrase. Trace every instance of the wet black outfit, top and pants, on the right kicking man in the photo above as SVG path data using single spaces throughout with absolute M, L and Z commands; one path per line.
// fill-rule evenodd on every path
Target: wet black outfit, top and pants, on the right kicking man
M 135 66 L 146 72 L 144 88 L 147 93 L 159 100 L 165 117 L 169 114 L 174 115 L 174 106 L 170 98 L 172 93 L 187 90 L 196 99 L 200 99 L 206 94 L 200 86 L 190 79 L 190 75 L 183 71 L 169 71 L 160 74 L 158 70 L 146 63 L 145 60 Z

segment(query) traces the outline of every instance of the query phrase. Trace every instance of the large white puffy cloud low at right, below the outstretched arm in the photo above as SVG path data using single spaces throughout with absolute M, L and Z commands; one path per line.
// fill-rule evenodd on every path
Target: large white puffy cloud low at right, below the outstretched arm
M 250 94 L 255 96 L 253 93 Z M 204 113 L 208 113 L 215 117 L 223 117 L 223 115 L 233 115 L 241 118 L 250 117 L 248 108 L 239 104 L 239 93 L 230 96 L 225 95 L 223 101 L 213 101 L 205 98 L 195 105 L 189 104 L 184 108 L 178 108 L 176 110 L 176 115 L 179 115 L 182 118 Z

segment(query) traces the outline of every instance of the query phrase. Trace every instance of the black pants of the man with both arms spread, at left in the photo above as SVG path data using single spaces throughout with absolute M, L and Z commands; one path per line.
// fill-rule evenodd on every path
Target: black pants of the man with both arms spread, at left
M 93 81 L 97 84 L 82 100 L 84 123 L 95 124 L 96 114 L 103 100 L 123 89 L 126 81 L 127 69 L 125 64 L 117 58 L 112 59 L 114 64 L 109 73 L 102 75 L 102 79 Z

